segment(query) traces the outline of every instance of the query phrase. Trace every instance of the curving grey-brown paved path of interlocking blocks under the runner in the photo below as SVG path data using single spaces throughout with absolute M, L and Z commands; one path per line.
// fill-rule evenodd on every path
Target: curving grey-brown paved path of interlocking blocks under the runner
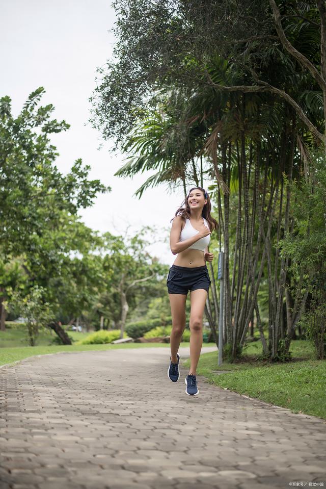
M 199 376 L 187 396 L 168 362 L 166 348 L 121 349 L 1 369 L 1 489 L 326 487 L 323 420 Z

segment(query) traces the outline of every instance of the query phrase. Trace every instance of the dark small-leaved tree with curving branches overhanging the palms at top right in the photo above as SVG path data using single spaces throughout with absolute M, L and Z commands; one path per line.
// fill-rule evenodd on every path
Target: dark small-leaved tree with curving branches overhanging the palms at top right
M 304 74 L 314 94 L 318 96 L 320 87 L 324 90 L 323 2 L 318 2 L 318 9 L 314 2 L 283 4 L 283 29 L 274 0 L 269 4 L 270 7 L 255 0 L 219 0 L 210 4 L 194 0 L 116 0 L 118 41 L 114 61 L 107 61 L 105 69 L 98 69 L 101 80 L 90 99 L 93 125 L 104 137 L 114 138 L 119 144 L 142 118 L 157 89 L 173 85 L 190 95 L 200 85 L 228 93 L 273 94 L 274 99 L 292 108 L 319 142 L 324 142 L 323 122 L 321 129 L 307 116 L 300 99 L 297 101 L 288 92 L 289 87 L 282 86 L 273 76 L 275 71 L 266 70 L 271 58 L 277 63 L 282 61 L 287 70 L 301 72 L 308 68 Z M 284 31 L 289 33 L 291 42 Z M 297 49 L 293 47 L 296 43 Z M 300 54 L 301 47 L 306 56 Z M 240 84 L 211 79 L 206 63 L 216 53 L 239 69 Z M 313 60 L 309 62 L 308 57 Z

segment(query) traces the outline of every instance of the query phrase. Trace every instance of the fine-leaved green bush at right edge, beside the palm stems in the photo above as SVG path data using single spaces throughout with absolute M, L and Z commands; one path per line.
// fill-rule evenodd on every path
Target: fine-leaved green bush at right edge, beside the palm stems
M 308 294 L 307 337 L 315 345 L 317 358 L 322 359 L 326 347 L 326 158 L 316 152 L 311 162 L 309 177 L 291 186 L 295 230 L 280 247 L 300 280 L 296 293 L 302 297 Z

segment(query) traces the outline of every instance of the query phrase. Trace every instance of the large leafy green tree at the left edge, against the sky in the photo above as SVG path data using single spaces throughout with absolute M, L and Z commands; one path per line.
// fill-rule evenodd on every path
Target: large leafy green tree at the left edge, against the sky
M 80 265 L 78 260 L 74 262 L 72 251 L 81 252 L 85 263 L 92 242 L 95 245 L 97 240 L 78 221 L 78 210 L 89 207 L 99 192 L 111 188 L 98 180 L 89 180 L 90 166 L 84 166 L 80 159 L 68 174 L 58 171 L 55 165 L 58 153 L 50 135 L 66 131 L 69 124 L 51 119 L 54 110 L 51 104 L 39 106 L 43 94 L 43 87 L 31 93 L 17 118 L 11 114 L 10 97 L 0 99 L 0 251 L 4 263 L 21 260 L 28 276 L 26 290 L 43 287 L 44 301 L 51 305 L 57 303 L 56 285 L 66 280 L 67 305 L 68 297 L 72 300 L 71 293 L 67 293 L 68 285 L 71 286 L 67 276 L 74 266 L 77 270 Z M 6 280 L 3 276 L 2 290 Z M 81 274 L 77 280 L 82 284 Z M 78 292 L 82 289 L 80 284 Z M 74 304 L 79 301 L 80 307 L 85 294 L 76 295 L 73 301 Z M 57 323 L 58 331 L 64 338 Z

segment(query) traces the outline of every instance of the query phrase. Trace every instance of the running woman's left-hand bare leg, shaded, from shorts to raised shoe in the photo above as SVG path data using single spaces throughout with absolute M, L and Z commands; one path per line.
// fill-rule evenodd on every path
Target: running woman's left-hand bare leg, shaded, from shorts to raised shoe
M 185 302 L 186 295 L 169 294 L 172 316 L 172 331 L 170 336 L 171 362 L 178 363 L 177 353 L 181 343 L 182 333 L 185 328 Z

